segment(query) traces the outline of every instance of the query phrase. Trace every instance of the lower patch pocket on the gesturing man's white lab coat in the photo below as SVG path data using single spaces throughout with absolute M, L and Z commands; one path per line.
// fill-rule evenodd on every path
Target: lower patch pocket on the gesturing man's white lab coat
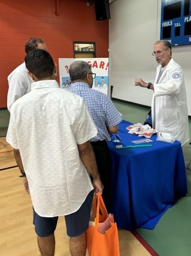
M 161 123 L 164 127 L 170 127 L 178 122 L 178 109 L 164 109 L 161 114 Z M 173 128 L 173 127 L 172 127 Z

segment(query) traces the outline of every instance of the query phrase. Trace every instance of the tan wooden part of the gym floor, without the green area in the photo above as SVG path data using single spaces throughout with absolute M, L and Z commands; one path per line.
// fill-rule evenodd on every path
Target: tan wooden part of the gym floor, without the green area
M 23 189 L 20 171 L 11 146 L 0 138 L 0 255 L 40 256 L 32 224 L 30 195 Z M 3 169 L 3 170 L 2 170 Z M 131 234 L 119 229 L 120 256 L 150 256 L 145 247 Z M 69 237 L 64 217 L 59 217 L 55 232 L 55 256 L 70 256 Z M 88 254 L 86 254 L 88 255 Z

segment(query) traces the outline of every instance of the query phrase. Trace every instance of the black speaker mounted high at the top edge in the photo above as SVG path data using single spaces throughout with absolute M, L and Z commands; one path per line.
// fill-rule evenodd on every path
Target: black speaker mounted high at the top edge
M 96 21 L 111 19 L 109 0 L 95 0 Z

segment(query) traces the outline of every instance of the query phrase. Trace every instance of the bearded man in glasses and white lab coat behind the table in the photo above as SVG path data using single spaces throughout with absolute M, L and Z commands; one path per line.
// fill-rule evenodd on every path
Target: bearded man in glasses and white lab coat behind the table
M 136 78 L 135 85 L 154 91 L 151 113 L 152 127 L 156 131 L 170 133 L 183 146 L 189 141 L 188 108 L 183 71 L 171 53 L 169 41 L 154 44 L 152 53 L 159 66 L 154 83 Z

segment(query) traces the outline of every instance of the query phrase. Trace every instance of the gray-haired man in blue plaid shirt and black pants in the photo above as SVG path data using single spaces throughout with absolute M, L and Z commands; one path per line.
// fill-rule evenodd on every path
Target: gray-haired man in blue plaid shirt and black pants
M 117 125 L 122 120 L 121 114 L 106 94 L 92 89 L 96 74 L 92 73 L 88 63 L 85 61 L 73 62 L 70 65 L 69 74 L 73 83 L 70 91 L 84 98 L 98 130 L 97 135 L 90 142 L 96 156 L 100 178 L 104 184 L 102 196 L 107 211 L 110 212 L 110 153 L 106 141 L 111 140 L 109 134 L 117 133 Z

